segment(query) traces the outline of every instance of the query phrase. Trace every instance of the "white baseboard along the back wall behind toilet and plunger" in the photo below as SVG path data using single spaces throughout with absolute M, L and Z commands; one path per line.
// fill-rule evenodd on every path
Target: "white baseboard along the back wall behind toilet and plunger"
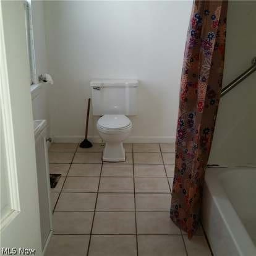
M 52 136 L 53 142 L 56 143 L 79 143 L 84 139 L 83 136 Z M 100 143 L 102 140 L 99 136 L 88 136 L 88 140 Z M 174 136 L 131 136 L 126 143 L 174 143 Z

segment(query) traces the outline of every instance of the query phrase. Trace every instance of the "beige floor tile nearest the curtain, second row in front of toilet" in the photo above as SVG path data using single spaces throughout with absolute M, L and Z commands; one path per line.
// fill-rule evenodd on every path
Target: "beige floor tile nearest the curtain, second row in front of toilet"
M 136 193 L 169 193 L 166 177 L 135 177 Z

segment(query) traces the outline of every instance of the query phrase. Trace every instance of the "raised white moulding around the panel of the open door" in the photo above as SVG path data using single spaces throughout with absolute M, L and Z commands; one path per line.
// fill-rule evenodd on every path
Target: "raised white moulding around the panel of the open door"
M 2 126 L 6 147 L 7 179 L 9 181 L 11 211 L 7 218 L 1 221 L 0 229 L 5 228 L 20 212 L 19 184 L 15 155 L 14 129 L 12 123 L 11 96 L 6 62 L 6 46 L 4 43 L 4 27 L 2 23 L 2 6 L 0 4 L 0 104 Z

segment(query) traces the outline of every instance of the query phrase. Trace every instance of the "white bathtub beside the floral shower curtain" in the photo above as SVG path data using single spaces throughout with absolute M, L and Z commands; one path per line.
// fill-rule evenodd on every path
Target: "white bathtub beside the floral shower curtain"
M 202 225 L 215 256 L 256 256 L 256 168 L 208 168 Z

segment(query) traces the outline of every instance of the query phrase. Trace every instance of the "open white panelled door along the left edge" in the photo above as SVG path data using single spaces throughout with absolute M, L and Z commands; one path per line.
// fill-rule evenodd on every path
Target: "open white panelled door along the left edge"
M 0 2 L 0 65 L 1 255 L 42 255 L 23 1 Z

